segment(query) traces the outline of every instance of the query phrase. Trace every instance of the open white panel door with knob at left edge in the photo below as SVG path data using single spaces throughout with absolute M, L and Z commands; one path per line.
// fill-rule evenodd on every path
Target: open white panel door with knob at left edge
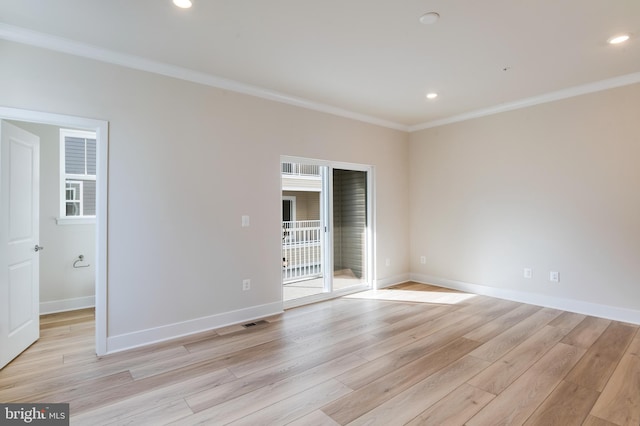
M 0 368 L 40 337 L 40 138 L 0 121 Z

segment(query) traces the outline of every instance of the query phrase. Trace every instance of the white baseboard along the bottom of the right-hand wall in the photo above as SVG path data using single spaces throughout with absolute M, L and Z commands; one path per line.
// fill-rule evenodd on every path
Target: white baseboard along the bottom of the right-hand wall
M 561 309 L 563 311 L 591 315 L 615 321 L 640 324 L 640 311 L 634 309 L 618 308 L 615 306 L 600 305 L 598 303 L 584 302 L 575 299 L 565 299 L 562 297 L 528 293 L 524 291 L 505 288 L 487 287 L 480 284 L 454 281 L 446 278 L 434 277 L 431 275 L 411 274 L 411 281 L 422 284 L 434 284 L 454 290 L 465 291 L 468 293 L 491 296 L 498 299 L 512 300 L 514 302 L 527 303 L 530 305 L 544 306 L 546 308 Z

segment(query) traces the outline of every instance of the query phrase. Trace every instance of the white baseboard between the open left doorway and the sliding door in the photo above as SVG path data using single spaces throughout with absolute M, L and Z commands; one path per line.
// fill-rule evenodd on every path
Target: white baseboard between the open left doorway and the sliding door
M 107 354 L 163 342 L 190 334 L 240 324 L 283 312 L 282 302 L 253 306 L 247 309 L 163 325 L 133 333 L 107 337 Z

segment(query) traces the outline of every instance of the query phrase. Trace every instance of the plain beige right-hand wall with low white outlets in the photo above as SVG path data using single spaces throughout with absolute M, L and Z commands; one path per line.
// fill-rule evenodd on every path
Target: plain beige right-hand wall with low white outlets
M 639 118 L 636 84 L 413 133 L 413 277 L 640 322 Z

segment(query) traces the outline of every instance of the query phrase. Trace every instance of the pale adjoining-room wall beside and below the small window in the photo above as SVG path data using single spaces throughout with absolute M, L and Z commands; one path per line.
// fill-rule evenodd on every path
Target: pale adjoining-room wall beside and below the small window
M 93 306 L 95 225 L 58 225 L 60 215 L 60 128 L 13 122 L 40 137 L 40 313 Z M 88 268 L 75 269 L 83 254 Z

